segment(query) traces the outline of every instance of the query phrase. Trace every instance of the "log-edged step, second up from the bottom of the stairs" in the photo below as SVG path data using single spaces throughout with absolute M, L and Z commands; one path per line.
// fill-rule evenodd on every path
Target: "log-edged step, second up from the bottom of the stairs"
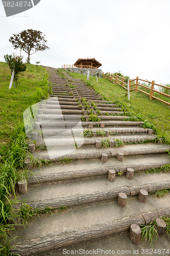
M 28 188 L 27 194 L 18 196 L 33 208 L 64 207 L 91 203 L 105 203 L 117 199 L 118 193 L 136 196 L 140 189 L 148 192 L 170 187 L 170 173 L 135 175 L 132 180 L 126 176 L 115 177 L 114 182 L 107 177 L 66 184 L 53 184 Z

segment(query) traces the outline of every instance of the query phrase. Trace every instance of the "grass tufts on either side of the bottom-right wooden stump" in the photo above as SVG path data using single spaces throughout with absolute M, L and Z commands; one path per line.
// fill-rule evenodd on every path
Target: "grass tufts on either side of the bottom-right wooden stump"
M 165 233 L 169 237 L 170 235 L 170 217 L 163 217 L 162 220 L 166 224 Z M 153 248 L 153 242 L 157 242 L 158 237 L 158 231 L 157 231 L 157 223 L 156 218 L 152 220 L 152 222 L 149 225 L 141 225 L 141 240 L 147 242 L 151 241 L 152 248 Z

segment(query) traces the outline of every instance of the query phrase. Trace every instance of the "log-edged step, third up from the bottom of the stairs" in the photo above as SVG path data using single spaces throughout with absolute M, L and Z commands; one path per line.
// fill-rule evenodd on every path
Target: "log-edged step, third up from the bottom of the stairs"
M 107 177 L 109 169 L 113 168 L 115 169 L 116 176 L 118 176 L 118 173 L 123 173 L 122 176 L 124 176 L 126 175 L 127 168 L 133 168 L 135 172 L 140 173 L 144 170 L 160 168 L 162 165 L 167 164 L 170 164 L 167 154 L 148 154 L 145 157 L 139 155 L 129 156 L 125 157 L 123 162 L 117 161 L 116 158 L 108 158 L 106 163 L 101 162 L 100 159 L 93 159 L 93 161 L 82 159 L 81 161 L 72 161 L 69 164 L 62 165 L 60 163 L 53 163 L 52 166 L 31 169 L 31 177 L 28 180 L 28 184 L 39 186 L 39 183 L 69 183 L 75 180 Z

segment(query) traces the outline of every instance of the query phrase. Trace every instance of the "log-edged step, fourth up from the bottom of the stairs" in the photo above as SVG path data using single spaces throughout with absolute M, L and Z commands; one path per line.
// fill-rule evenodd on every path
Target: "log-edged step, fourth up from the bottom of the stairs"
M 47 160 L 60 160 L 61 158 L 71 158 L 72 160 L 77 159 L 94 159 L 94 158 L 101 158 L 102 154 L 107 154 L 108 158 L 116 157 L 118 153 L 123 153 L 124 158 L 128 156 L 135 156 L 135 155 L 147 155 L 147 154 L 159 154 L 164 153 L 166 150 L 170 149 L 170 145 L 164 144 L 155 144 L 155 143 L 147 143 L 147 144 L 136 144 L 136 145 L 124 145 L 119 148 L 94 148 L 88 147 L 87 148 L 68 148 L 68 151 L 64 148 L 58 148 L 57 150 L 51 151 L 40 151 L 33 153 L 33 156 L 38 159 L 47 159 Z

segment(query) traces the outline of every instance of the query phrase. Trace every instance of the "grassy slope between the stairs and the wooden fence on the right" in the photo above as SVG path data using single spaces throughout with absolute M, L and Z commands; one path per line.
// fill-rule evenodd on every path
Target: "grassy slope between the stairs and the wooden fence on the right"
M 64 72 L 63 72 L 64 73 Z M 87 76 L 77 73 L 70 73 L 74 78 L 83 79 L 87 81 Z M 164 104 L 158 100 L 150 100 L 148 95 L 141 92 L 130 92 L 130 100 L 126 96 L 126 90 L 122 87 L 112 83 L 105 78 L 98 78 L 90 76 L 89 84 L 94 90 L 99 92 L 103 97 L 109 101 L 122 101 L 127 110 L 135 112 L 143 120 L 147 120 L 149 123 L 156 127 L 157 134 L 159 136 L 166 136 L 170 143 L 170 106 Z

